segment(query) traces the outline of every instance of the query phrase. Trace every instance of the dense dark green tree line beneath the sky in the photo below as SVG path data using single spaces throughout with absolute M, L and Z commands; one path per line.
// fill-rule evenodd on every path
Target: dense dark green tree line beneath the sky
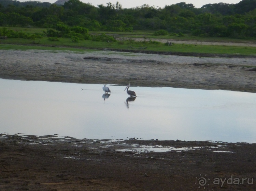
M 113 32 L 151 30 L 194 36 L 244 38 L 256 37 L 255 21 L 256 0 L 242 0 L 237 4 L 206 4 L 201 8 L 185 2 L 163 8 L 147 4 L 123 8 L 119 2 L 95 7 L 79 0 L 69 0 L 64 5 L 0 0 L 0 26 L 52 29 L 47 31 L 48 35 L 54 32 L 60 35 L 65 28 L 69 28 Z

